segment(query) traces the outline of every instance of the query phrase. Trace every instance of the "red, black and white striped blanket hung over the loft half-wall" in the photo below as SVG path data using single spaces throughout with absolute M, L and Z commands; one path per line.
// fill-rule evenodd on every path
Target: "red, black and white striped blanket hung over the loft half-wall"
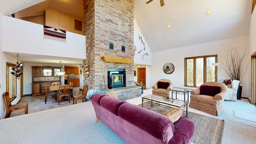
M 66 30 L 44 26 L 44 38 L 66 41 Z

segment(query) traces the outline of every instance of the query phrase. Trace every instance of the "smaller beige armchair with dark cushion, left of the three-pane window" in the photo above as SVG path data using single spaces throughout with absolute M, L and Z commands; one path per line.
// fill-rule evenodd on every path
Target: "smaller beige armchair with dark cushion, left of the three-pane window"
M 152 94 L 169 98 L 172 90 L 172 82 L 168 79 L 160 79 L 152 86 Z

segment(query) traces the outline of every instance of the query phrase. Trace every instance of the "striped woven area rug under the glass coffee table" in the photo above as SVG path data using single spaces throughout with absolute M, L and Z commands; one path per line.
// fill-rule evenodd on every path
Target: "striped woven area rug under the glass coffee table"
M 138 106 L 141 106 L 141 104 Z M 143 107 L 160 114 L 162 114 L 163 111 L 169 110 L 167 108 L 151 106 L 151 104 L 148 103 L 144 103 Z M 185 116 L 186 111 L 183 111 L 182 117 Z M 191 142 L 195 144 L 221 144 L 224 120 L 219 120 L 217 118 L 212 118 L 193 112 L 188 112 L 187 118 L 190 119 L 195 126 Z

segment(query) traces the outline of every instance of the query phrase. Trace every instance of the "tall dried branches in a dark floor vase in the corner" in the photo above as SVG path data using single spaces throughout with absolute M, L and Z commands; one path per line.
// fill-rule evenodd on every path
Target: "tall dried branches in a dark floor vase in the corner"
M 224 60 L 221 58 L 222 64 L 223 64 L 223 66 L 221 65 L 221 67 L 224 69 L 226 74 L 228 74 L 231 80 L 239 80 L 241 83 L 244 77 L 244 74 L 248 68 L 250 60 L 246 66 L 246 69 L 243 69 L 244 65 L 242 64 L 242 62 L 246 54 L 248 54 L 248 52 L 246 52 L 247 48 L 244 49 L 243 53 L 240 53 L 239 49 L 241 48 L 232 48 L 230 51 L 228 51 Z M 241 99 L 241 94 L 242 94 L 242 86 L 239 86 L 238 92 L 237 92 L 238 100 Z

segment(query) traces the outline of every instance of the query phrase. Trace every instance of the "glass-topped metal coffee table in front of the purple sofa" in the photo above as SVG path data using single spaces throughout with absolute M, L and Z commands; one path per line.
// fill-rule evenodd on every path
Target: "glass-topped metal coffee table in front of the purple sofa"
M 142 107 L 143 104 L 145 103 L 151 104 L 151 106 L 159 107 L 159 110 L 161 110 L 162 108 L 182 108 L 183 110 L 186 109 L 186 117 L 188 117 L 188 101 L 186 100 L 178 100 L 172 98 L 165 98 L 162 96 L 148 95 L 142 97 Z

